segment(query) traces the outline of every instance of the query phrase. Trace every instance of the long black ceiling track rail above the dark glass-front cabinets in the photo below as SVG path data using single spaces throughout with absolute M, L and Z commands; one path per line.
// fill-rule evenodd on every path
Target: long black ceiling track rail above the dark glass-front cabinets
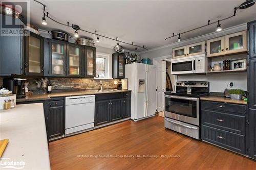
M 41 5 L 44 7 L 44 17 L 46 16 L 47 18 L 51 19 L 52 21 L 54 21 L 54 22 L 56 22 L 56 23 L 58 23 L 58 24 L 60 24 L 60 25 L 62 25 L 62 26 L 66 26 L 66 27 L 71 27 L 71 28 L 72 28 L 72 25 L 71 25 L 71 26 L 69 25 L 69 23 L 70 23 L 69 21 L 67 21 L 67 24 L 65 24 L 65 23 L 62 23 L 62 22 L 57 21 L 56 19 L 53 19 L 53 18 L 50 16 L 49 12 L 46 12 L 46 14 L 45 14 L 45 8 L 46 8 L 46 5 L 45 5 L 45 4 L 42 4 L 41 2 L 39 2 L 39 1 L 37 1 L 37 0 L 33 0 L 33 1 L 36 2 L 36 3 L 41 4 Z M 132 42 L 132 43 L 129 43 L 129 42 L 121 41 L 121 40 L 119 40 L 118 38 L 111 38 L 111 37 L 108 37 L 108 36 L 105 36 L 105 35 L 98 34 L 97 31 L 91 32 L 91 31 L 83 30 L 83 29 L 81 29 L 81 28 L 80 28 L 80 31 L 87 32 L 87 33 L 89 33 L 89 34 L 93 34 L 93 35 L 96 35 L 96 36 L 98 36 L 98 37 L 107 38 L 107 39 L 110 39 L 110 40 L 113 40 L 113 41 L 118 41 L 118 42 L 121 42 L 121 43 L 123 43 L 123 44 L 135 46 L 135 50 L 137 50 L 137 47 L 142 48 L 142 49 L 144 49 L 144 50 L 147 50 L 147 48 L 144 47 L 144 45 L 140 46 L 140 45 L 134 44 L 133 42 Z

